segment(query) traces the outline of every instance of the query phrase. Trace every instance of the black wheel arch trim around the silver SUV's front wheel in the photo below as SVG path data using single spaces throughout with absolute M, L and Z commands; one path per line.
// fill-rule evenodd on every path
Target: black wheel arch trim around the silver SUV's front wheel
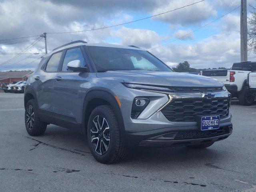
M 112 92 L 111 90 L 108 90 L 106 88 L 101 88 L 101 87 L 94 87 L 92 89 L 89 89 L 84 98 L 83 98 L 83 108 L 82 108 L 82 133 L 83 134 L 87 134 L 86 129 L 87 129 L 87 122 L 86 122 L 86 118 L 88 119 L 89 117 L 86 117 L 86 108 L 88 105 L 88 102 L 92 99 L 95 98 L 99 98 L 99 99 L 103 99 L 106 100 L 108 103 L 110 103 L 110 105 L 114 108 L 114 112 L 116 114 L 116 118 L 118 120 L 118 125 L 120 128 L 120 133 L 121 136 L 123 135 L 125 128 L 124 128 L 124 120 L 122 117 L 122 112 L 121 109 L 118 105 L 118 102 L 116 101 L 116 98 L 114 98 L 114 92 Z

